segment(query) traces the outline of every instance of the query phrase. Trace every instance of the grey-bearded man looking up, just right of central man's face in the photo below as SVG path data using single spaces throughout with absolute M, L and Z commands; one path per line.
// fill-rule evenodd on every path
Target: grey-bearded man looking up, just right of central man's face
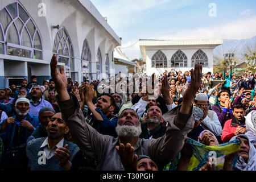
M 146 123 L 141 124 L 142 133 L 139 138 L 156 139 L 166 134 L 166 122 L 163 122 L 162 111 L 158 106 L 151 106 L 147 110 L 145 120 Z

